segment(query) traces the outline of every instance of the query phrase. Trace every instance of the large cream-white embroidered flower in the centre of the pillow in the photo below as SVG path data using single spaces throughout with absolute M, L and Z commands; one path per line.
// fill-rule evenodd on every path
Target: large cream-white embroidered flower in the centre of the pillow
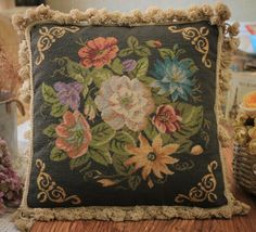
M 146 127 L 146 116 L 154 109 L 151 91 L 138 79 L 127 76 L 113 76 L 104 81 L 95 104 L 101 116 L 113 129 L 125 125 L 133 131 Z

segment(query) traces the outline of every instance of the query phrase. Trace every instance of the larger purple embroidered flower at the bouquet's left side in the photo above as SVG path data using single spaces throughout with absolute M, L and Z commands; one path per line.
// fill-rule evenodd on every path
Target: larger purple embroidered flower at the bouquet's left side
M 81 83 L 72 82 L 56 82 L 54 89 L 57 91 L 57 98 L 62 105 L 69 105 L 69 107 L 75 111 L 78 109 L 80 104 L 80 92 L 82 90 Z

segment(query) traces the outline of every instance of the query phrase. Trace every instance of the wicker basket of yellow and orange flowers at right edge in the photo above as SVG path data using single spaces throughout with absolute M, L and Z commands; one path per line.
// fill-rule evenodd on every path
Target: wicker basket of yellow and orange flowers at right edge
M 256 195 L 256 91 L 243 98 L 234 127 L 233 173 L 236 182 Z

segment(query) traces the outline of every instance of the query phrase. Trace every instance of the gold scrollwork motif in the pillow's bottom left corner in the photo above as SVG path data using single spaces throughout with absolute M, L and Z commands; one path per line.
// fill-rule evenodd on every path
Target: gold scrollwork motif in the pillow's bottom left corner
M 36 160 L 36 166 L 39 168 L 39 175 L 37 177 L 37 186 L 39 193 L 37 198 L 40 203 L 44 203 L 47 199 L 54 203 L 69 202 L 73 205 L 78 205 L 81 203 L 77 195 L 67 196 L 63 188 L 57 186 L 49 173 L 44 172 L 46 164 L 41 159 Z

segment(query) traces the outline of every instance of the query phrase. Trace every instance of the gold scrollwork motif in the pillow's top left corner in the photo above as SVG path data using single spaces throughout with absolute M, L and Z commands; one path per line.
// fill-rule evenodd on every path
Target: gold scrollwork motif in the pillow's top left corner
M 39 55 L 36 59 L 36 64 L 39 65 L 44 60 L 44 51 L 51 48 L 56 39 L 62 38 L 66 33 L 76 33 L 79 30 L 77 26 L 69 27 L 51 27 L 43 26 L 39 29 L 40 38 L 37 41 Z

